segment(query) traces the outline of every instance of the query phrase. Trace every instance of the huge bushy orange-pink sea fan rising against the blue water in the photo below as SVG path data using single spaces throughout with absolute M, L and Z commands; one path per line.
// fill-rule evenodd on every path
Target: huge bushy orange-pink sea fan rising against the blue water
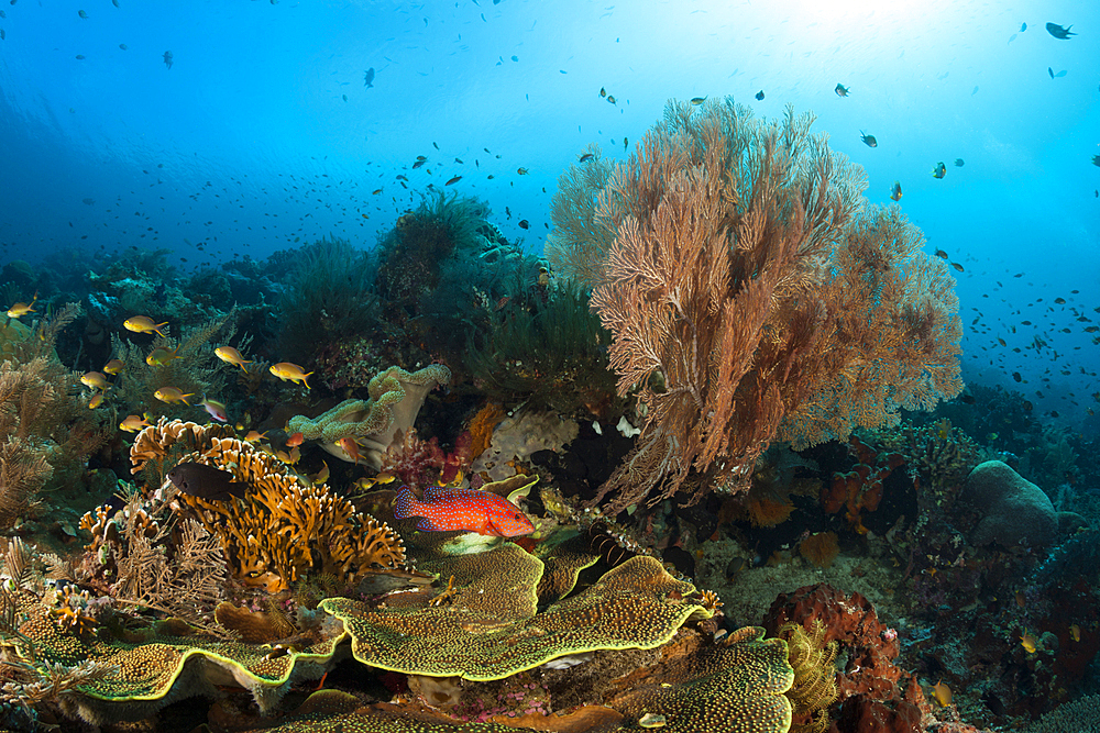
M 812 122 L 671 102 L 629 162 L 563 177 L 550 258 L 593 287 L 645 413 L 597 493 L 609 512 L 743 490 L 773 440 L 843 440 L 961 389 L 946 267 Z

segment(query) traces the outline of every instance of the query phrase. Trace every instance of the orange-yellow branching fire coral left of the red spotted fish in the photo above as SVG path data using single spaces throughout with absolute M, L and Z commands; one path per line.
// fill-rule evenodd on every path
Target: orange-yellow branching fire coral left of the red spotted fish
M 219 432 L 216 425 L 208 427 Z M 354 584 L 369 573 L 403 566 L 405 548 L 386 524 L 356 511 L 324 485 L 304 486 L 278 460 L 251 444 L 204 435 L 202 430 L 194 423 L 162 420 L 139 434 L 131 459 L 139 464 L 150 453 L 167 452 L 167 436 L 176 435 L 196 445 L 182 460 L 216 466 L 249 484 L 243 500 L 208 501 L 179 495 L 182 504 L 221 541 L 242 582 L 274 593 L 307 573 L 331 574 Z

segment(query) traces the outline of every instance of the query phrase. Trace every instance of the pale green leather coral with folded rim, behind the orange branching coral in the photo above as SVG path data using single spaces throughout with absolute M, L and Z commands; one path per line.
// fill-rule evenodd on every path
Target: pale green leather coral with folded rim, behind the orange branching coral
M 375 469 L 382 468 L 382 456 L 398 431 L 408 431 L 416 422 L 424 400 L 436 387 L 451 381 L 451 370 L 442 364 L 429 365 L 409 374 L 400 367 L 389 367 L 367 385 L 371 399 L 344 400 L 318 418 L 295 415 L 288 431 L 301 433 L 307 441 L 320 441 L 332 455 L 351 460 L 337 442 L 355 438 L 363 448 L 361 456 Z

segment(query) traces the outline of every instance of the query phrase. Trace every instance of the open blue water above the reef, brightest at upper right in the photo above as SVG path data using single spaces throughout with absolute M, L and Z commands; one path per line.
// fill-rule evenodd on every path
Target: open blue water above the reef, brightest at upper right
M 326 234 L 370 246 L 453 176 L 449 190 L 539 249 L 558 176 L 590 142 L 624 157 L 668 99 L 733 95 L 766 116 L 813 110 L 866 168 L 870 200 L 901 181 L 927 251 L 966 268 L 968 378 L 1041 387 L 1064 418 L 1096 404 L 1081 370 L 1100 359 L 1077 320 L 1100 321 L 1094 3 L 119 4 L 0 3 L 4 260 L 139 245 L 193 267 Z M 1056 40 L 1048 21 L 1079 35 Z M 1036 335 L 1049 347 L 1028 348 Z

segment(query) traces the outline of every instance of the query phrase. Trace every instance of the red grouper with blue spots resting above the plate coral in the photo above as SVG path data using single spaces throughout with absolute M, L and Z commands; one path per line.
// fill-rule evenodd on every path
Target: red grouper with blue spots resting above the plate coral
M 403 486 L 394 499 L 394 517 L 419 517 L 416 529 L 422 532 L 461 530 L 492 537 L 518 537 L 530 534 L 535 525 L 516 504 L 490 491 L 430 486 L 424 499 Z

